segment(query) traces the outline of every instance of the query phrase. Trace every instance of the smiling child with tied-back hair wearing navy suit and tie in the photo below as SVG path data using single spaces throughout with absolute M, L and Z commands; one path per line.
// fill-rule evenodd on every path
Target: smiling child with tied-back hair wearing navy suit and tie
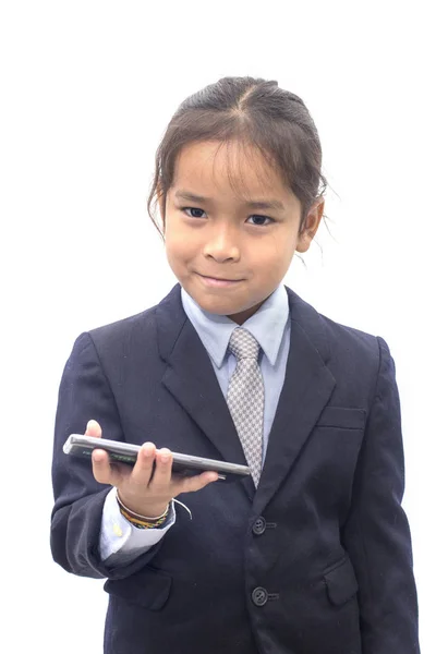
M 320 165 L 303 101 L 253 77 L 187 98 L 159 145 L 148 210 L 180 284 L 77 338 L 56 420 L 52 556 L 107 578 L 106 654 L 420 651 L 388 346 L 282 284 Z M 65 456 L 85 429 L 142 445 L 135 467 Z M 252 475 L 171 476 L 171 451 Z

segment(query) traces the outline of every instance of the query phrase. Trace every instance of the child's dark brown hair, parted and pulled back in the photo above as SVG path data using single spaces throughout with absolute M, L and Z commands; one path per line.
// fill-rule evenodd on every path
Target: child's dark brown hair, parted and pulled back
M 222 77 L 187 97 L 171 118 L 156 152 L 147 201 L 148 215 L 162 234 L 150 207 L 172 185 L 178 155 L 189 143 L 219 141 L 255 146 L 300 199 L 300 230 L 327 180 L 320 172 L 322 147 L 315 123 L 299 96 L 259 77 Z M 165 211 L 162 216 L 165 228 Z

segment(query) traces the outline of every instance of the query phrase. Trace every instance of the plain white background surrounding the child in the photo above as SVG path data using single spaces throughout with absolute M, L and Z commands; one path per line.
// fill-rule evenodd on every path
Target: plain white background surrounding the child
M 322 229 L 307 267 L 294 259 L 284 281 L 319 312 L 383 336 L 397 363 L 422 652 L 435 651 L 431 8 L 419 0 L 1 3 L 8 652 L 101 650 L 102 582 L 66 574 L 49 550 L 60 376 L 80 332 L 141 312 L 172 288 L 145 208 L 156 147 L 187 95 L 245 74 L 303 98 L 332 187 L 332 237 Z

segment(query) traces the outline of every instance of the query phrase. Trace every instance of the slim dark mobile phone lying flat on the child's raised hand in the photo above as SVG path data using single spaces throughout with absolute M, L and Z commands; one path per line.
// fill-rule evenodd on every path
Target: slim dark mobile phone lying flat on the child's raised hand
M 94 449 L 104 449 L 109 453 L 112 461 L 134 465 L 136 463 L 140 445 L 110 440 L 108 438 L 96 438 L 95 436 L 84 436 L 83 434 L 71 434 L 63 445 L 65 455 L 82 457 L 90 460 Z M 228 463 L 227 461 L 217 461 L 215 459 L 205 459 L 194 457 L 193 455 L 172 453 L 172 472 L 179 476 L 193 476 L 204 471 L 218 473 L 218 480 L 221 482 L 233 482 L 251 474 L 247 465 L 239 463 Z

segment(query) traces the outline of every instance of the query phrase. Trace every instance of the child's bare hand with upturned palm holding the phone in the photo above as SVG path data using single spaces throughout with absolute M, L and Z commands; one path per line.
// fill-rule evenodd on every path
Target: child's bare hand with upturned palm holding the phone
M 101 427 L 95 420 L 88 422 L 85 436 L 101 438 Z M 92 462 L 97 482 L 116 486 L 126 507 L 149 518 L 160 516 L 168 502 L 181 493 L 195 493 L 218 480 L 218 473 L 211 471 L 194 476 L 173 475 L 171 451 L 157 449 L 153 443 L 140 448 L 133 467 L 111 462 L 104 449 L 92 452 Z

